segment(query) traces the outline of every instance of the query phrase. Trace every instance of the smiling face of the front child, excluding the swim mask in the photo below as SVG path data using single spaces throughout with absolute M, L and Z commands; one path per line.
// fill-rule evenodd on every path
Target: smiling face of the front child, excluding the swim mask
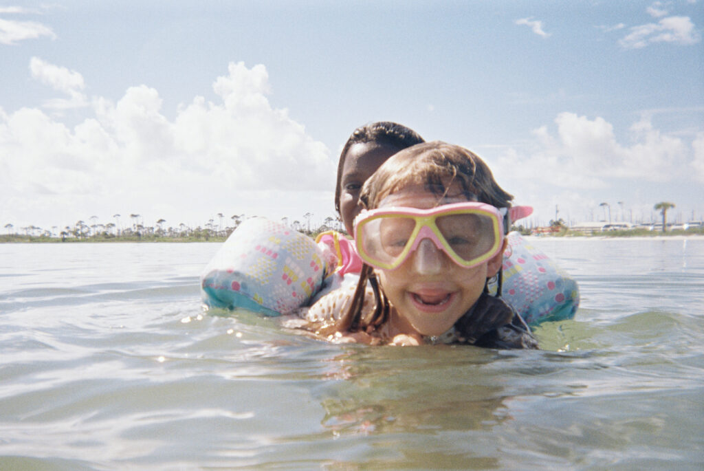
M 453 193 L 459 194 L 459 191 L 449 192 Z M 458 201 L 454 198 L 440 204 Z M 419 209 L 439 206 L 438 197 L 422 187 L 403 189 L 387 196 L 382 203 L 382 207 Z M 486 278 L 496 275 L 501 267 L 502 256 L 503 251 L 474 268 L 463 268 L 437 249 L 430 239 L 424 239 L 395 270 L 375 271 L 384 293 L 403 320 L 419 334 L 440 335 L 477 302 Z

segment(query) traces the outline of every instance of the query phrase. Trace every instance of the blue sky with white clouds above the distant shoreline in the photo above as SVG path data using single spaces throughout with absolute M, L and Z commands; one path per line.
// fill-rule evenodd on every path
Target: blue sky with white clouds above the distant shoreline
M 0 3 L 0 226 L 334 216 L 394 120 L 534 224 L 704 217 L 704 8 L 672 1 Z

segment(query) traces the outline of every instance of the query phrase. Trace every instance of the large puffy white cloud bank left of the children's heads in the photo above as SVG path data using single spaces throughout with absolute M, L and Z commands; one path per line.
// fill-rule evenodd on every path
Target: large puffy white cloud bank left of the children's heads
M 85 86 L 80 73 L 39 59 L 30 68 L 59 92 Z M 270 106 L 270 88 L 263 65 L 230 63 L 213 84 L 217 100 L 196 96 L 171 119 L 146 85 L 116 102 L 93 97 L 75 127 L 37 108 L 0 109 L 0 219 L 159 211 L 154 218 L 175 223 L 212 211 L 287 213 L 302 199 L 292 194 L 320 199 L 321 192 L 332 209 L 329 150 L 287 110 Z

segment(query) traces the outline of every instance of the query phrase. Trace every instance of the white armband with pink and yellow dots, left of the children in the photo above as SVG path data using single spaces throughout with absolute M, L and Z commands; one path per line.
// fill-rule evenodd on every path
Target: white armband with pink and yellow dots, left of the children
M 213 308 L 290 314 L 320 291 L 326 265 L 310 237 L 279 222 L 250 218 L 203 270 L 201 298 Z

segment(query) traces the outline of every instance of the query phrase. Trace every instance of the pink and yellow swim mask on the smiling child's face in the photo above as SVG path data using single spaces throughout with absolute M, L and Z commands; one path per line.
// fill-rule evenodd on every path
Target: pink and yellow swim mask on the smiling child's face
M 501 251 L 506 211 L 472 201 L 430 209 L 397 206 L 363 210 L 355 218 L 355 244 L 367 264 L 394 270 L 423 239 L 430 239 L 453 262 L 472 268 Z

